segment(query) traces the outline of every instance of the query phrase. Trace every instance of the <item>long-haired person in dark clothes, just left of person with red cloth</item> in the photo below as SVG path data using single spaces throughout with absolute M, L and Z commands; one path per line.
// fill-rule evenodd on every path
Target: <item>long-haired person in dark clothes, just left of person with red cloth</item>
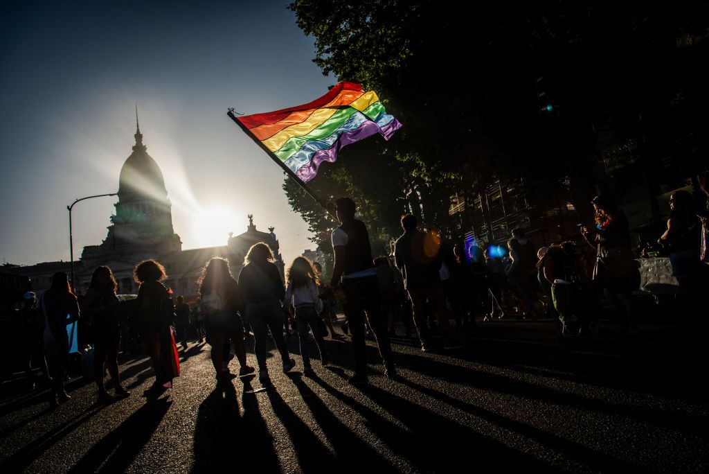
M 94 329 L 94 380 L 99 389 L 99 403 L 111 402 L 113 399 L 104 387 L 104 362 L 108 373 L 111 374 L 116 397 L 130 395 L 130 392 L 121 385 L 121 374 L 118 372 L 121 322 L 116 312 L 117 287 L 118 283 L 110 268 L 104 266 L 96 268 L 91 275 L 91 283 L 82 302 L 82 314 L 91 319 L 91 326 Z

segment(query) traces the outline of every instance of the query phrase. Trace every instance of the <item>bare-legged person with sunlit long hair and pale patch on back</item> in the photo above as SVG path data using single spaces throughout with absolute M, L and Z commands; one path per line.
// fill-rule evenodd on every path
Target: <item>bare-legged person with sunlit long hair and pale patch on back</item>
M 222 363 L 225 346 L 229 340 L 234 345 L 234 353 L 241 365 L 239 375 L 254 373 L 255 369 L 246 363 L 244 324 L 239 314 L 239 285 L 231 275 L 229 262 L 224 258 L 211 258 L 202 270 L 198 283 L 201 312 L 209 344 L 212 346 L 211 358 L 217 384 L 228 382 L 228 371 L 224 373 Z

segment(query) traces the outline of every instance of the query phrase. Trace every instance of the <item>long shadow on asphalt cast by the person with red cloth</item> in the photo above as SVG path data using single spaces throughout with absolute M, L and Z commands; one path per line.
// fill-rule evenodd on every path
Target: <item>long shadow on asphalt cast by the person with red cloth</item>
M 91 446 L 69 472 L 124 472 L 150 441 L 170 405 L 172 402 L 167 398 L 145 403 L 120 426 Z

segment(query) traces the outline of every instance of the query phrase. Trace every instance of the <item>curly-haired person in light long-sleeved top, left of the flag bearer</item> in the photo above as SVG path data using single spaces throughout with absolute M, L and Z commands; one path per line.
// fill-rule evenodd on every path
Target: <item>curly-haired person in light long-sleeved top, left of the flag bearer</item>
M 296 329 L 303 358 L 303 374 L 305 375 L 313 374 L 313 367 L 308 355 L 308 328 L 313 331 L 323 367 L 328 365 L 325 340 L 323 334 L 320 333 L 320 326 L 318 326 L 318 314 L 323 311 L 323 301 L 320 299 L 320 292 L 318 292 L 319 279 L 318 272 L 304 257 L 297 257 L 293 260 L 291 268 L 286 272 L 284 309 L 292 306 L 296 313 Z

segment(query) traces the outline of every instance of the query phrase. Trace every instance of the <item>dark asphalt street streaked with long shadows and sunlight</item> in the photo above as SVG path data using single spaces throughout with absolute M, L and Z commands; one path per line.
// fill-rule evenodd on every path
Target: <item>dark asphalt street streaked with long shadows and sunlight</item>
M 347 383 L 349 338 L 328 339 L 333 365 L 316 358 L 309 378 L 293 337 L 296 368 L 281 373 L 270 358 L 269 390 L 257 377 L 216 390 L 209 346 L 191 343 L 157 401 L 142 397 L 152 383 L 142 356 L 121 365 L 132 395 L 107 406 L 81 377 L 54 410 L 43 392 L 4 395 L 0 472 L 705 472 L 705 326 L 643 329 L 567 339 L 550 321 L 495 321 L 435 353 L 399 337 L 400 380 L 382 375 L 368 341 L 364 387 Z

